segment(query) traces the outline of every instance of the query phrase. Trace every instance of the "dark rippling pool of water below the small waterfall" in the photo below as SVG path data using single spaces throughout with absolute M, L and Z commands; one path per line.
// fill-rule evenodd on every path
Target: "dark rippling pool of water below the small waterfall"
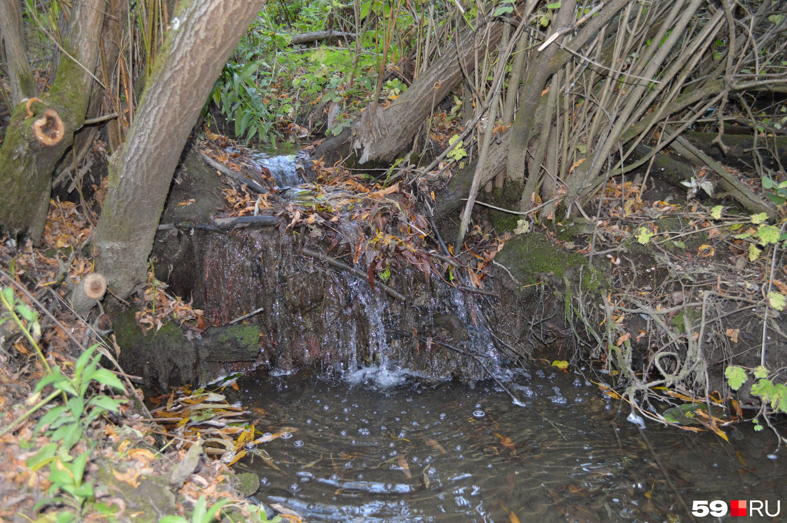
M 535 374 L 508 383 L 528 407 L 492 381 L 383 389 L 249 375 L 238 399 L 267 411 L 257 429 L 297 433 L 260 444 L 267 465 L 256 457 L 236 467 L 263 478 L 259 499 L 306 521 L 689 521 L 625 409 L 582 376 Z M 689 506 L 774 505 L 787 493 L 785 457 L 767 459 L 775 436 L 748 425 L 729 431 L 731 444 L 656 425 L 647 434 Z

